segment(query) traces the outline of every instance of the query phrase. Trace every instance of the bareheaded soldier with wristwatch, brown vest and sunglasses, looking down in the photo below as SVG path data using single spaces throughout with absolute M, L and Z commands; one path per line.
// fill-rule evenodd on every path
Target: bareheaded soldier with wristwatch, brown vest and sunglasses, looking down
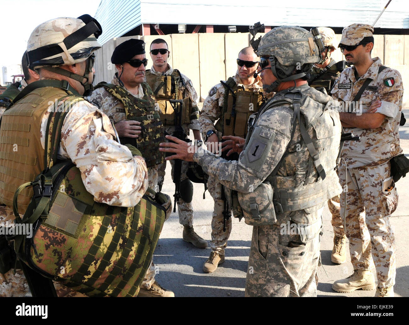
M 210 89 L 199 117 L 200 131 L 208 148 L 216 149 L 223 135 L 246 136 L 249 116 L 258 111 L 263 101 L 261 78 L 254 77 L 257 67 L 258 58 L 254 50 L 252 47 L 245 47 L 238 54 L 236 75 Z M 216 120 L 218 122 L 214 125 Z M 238 159 L 237 154 L 224 157 Z M 226 220 L 223 213 L 230 215 L 231 211 L 224 211 L 224 190 L 215 178 L 209 177 L 208 189 L 214 200 L 214 209 L 211 220 L 211 253 L 203 265 L 203 271 L 210 273 L 225 260 L 231 218 Z

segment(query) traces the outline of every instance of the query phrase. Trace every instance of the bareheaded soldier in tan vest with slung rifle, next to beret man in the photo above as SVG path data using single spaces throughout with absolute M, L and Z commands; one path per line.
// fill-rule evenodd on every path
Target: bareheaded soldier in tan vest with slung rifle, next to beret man
M 200 141 L 199 131 L 199 109 L 196 104 L 198 95 L 193 88 L 192 82 L 187 76 L 177 69 L 172 69 L 168 64 L 170 51 L 168 44 L 162 38 L 157 38 L 151 43 L 151 58 L 153 66 L 145 73 L 146 82 L 153 90 L 159 105 L 158 113 L 163 122 L 165 131 L 173 134 L 175 126 L 175 112 L 169 102 L 170 99 L 183 100 L 181 125 L 184 133 L 189 136 L 189 129 L 193 131 L 195 140 Z M 171 161 L 173 180 L 174 162 Z M 193 195 L 193 185 L 187 177 L 189 164 L 182 162 L 180 171 L 181 197 L 179 198 L 178 214 L 179 223 L 183 225 L 183 240 L 192 243 L 196 247 L 206 248 L 207 241 L 198 236 L 193 230 L 193 207 L 191 196 Z M 166 161 L 158 168 L 158 186 L 162 189 L 165 177 Z M 189 201 L 189 202 L 188 202 Z

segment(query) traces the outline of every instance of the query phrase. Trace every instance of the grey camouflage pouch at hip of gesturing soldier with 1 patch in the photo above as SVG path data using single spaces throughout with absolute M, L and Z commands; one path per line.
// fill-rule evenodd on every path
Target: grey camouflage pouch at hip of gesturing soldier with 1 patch
M 238 202 L 247 225 L 264 226 L 277 222 L 270 183 L 261 183 L 250 193 L 238 193 Z

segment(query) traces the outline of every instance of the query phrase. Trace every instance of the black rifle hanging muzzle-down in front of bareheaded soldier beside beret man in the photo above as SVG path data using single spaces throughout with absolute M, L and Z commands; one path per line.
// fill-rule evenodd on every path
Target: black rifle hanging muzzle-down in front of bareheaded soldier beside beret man
M 175 131 L 172 136 L 180 140 L 190 142 L 187 135 L 184 133 L 182 128 L 182 105 L 183 100 L 170 99 L 169 102 L 173 106 L 175 111 Z M 173 183 L 175 183 L 175 203 L 173 205 L 173 212 L 176 212 L 176 203 L 178 202 L 180 196 L 180 176 L 182 172 L 182 160 L 175 159 L 175 165 L 173 167 Z

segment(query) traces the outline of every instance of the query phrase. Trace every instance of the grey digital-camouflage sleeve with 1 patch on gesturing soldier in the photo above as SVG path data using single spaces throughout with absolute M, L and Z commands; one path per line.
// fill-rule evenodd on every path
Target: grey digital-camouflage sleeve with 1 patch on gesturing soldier
M 265 112 L 238 161 L 227 161 L 207 151 L 194 154 L 193 160 L 222 185 L 241 193 L 251 192 L 281 160 L 290 141 L 291 119 L 288 110 Z

